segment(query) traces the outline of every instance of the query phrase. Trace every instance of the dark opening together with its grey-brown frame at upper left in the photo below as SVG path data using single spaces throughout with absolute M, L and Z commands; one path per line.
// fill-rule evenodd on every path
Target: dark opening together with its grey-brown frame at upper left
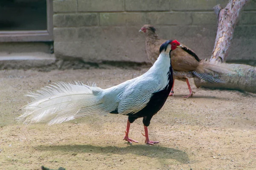
M 0 42 L 53 41 L 52 0 L 0 0 Z

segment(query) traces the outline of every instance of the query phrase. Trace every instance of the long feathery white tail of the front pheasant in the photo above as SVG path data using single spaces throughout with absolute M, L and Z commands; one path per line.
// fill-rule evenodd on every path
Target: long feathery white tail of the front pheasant
M 107 114 L 101 101 L 102 91 L 94 83 L 92 86 L 81 82 L 54 83 L 28 94 L 32 102 L 24 106 L 24 113 L 17 120 L 26 124 L 44 121 L 52 125 L 94 113 Z

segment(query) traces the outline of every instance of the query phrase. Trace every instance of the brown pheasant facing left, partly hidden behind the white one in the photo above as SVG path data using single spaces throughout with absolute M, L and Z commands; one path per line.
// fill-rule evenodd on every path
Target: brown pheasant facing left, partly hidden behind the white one
M 159 56 L 159 47 L 166 40 L 160 39 L 158 35 L 155 33 L 156 29 L 152 25 L 144 25 L 140 31 L 146 34 L 145 47 L 148 55 L 148 59 L 152 64 L 157 60 Z M 171 61 L 173 68 L 173 82 L 175 79 L 186 81 L 189 88 L 189 95 L 184 96 L 185 98 L 189 98 L 193 95 L 193 92 L 189 85 L 188 78 L 198 77 L 199 79 L 203 79 L 206 82 L 220 82 L 223 83 L 220 77 L 218 77 L 219 72 L 223 72 L 221 67 L 218 67 L 207 60 L 200 60 L 194 51 L 189 49 L 183 44 L 180 44 L 183 48 L 177 48 L 176 50 L 171 52 Z M 217 78 L 216 78 L 217 77 Z M 172 90 L 169 96 L 174 95 L 172 85 Z

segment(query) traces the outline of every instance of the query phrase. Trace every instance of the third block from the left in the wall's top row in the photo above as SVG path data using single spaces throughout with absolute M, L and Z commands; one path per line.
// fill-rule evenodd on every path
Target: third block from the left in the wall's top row
M 170 1 L 125 0 L 125 11 L 170 11 Z

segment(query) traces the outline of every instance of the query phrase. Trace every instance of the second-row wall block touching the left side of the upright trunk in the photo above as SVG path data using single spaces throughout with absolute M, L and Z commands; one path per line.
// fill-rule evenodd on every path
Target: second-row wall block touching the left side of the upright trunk
M 193 25 L 214 25 L 217 27 L 217 16 L 214 12 L 192 12 Z

